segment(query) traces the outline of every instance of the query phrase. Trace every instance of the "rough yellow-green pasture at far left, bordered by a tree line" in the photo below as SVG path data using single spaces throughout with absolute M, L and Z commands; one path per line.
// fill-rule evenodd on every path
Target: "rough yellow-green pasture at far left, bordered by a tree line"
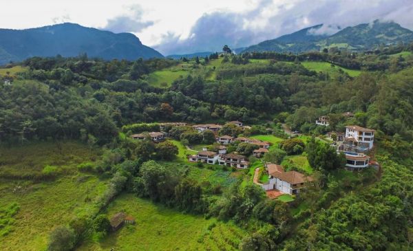
M 0 249 L 45 250 L 53 228 L 96 210 L 93 200 L 105 190 L 106 182 L 75 171 L 78 163 L 94 158 L 94 151 L 77 142 L 2 147 L 1 175 L 14 175 L 15 179 L 0 178 L 0 208 L 16 204 L 19 210 L 13 215 L 8 232 L 0 236 Z M 40 173 L 45 165 L 56 166 L 65 176 L 33 182 L 30 177 Z

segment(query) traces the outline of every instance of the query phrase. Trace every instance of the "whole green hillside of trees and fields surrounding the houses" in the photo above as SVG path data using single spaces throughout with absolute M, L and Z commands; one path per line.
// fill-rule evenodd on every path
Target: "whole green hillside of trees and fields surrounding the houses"
M 7 202 L 0 208 L 0 247 L 410 250 L 412 52 L 413 45 L 394 45 L 191 60 L 81 55 L 7 65 L 0 70 L 0 202 Z M 330 126 L 317 127 L 326 115 Z M 225 124 L 231 120 L 251 127 Z M 220 123 L 220 135 L 266 140 L 264 160 L 316 182 L 297 197 L 268 199 L 253 183 L 262 164 L 257 157 L 245 170 L 187 161 L 187 154 L 217 147 L 209 130 L 166 126 L 165 142 L 131 139 L 160 131 L 159 122 Z M 326 133 L 348 124 L 375 130 L 379 171 L 340 167 Z M 301 135 L 288 140 L 292 133 L 283 126 Z M 255 149 L 229 146 L 246 155 Z M 47 215 L 30 209 L 43 197 Z M 122 210 L 136 225 L 110 232 L 107 215 Z M 36 226 L 19 244 L 28 238 L 20 232 L 28 219 Z

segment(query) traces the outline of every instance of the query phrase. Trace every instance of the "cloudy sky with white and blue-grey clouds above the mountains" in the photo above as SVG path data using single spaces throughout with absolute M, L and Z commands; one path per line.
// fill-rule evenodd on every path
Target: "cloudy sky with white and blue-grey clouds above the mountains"
M 319 23 L 396 21 L 413 30 L 413 0 L 13 0 L 0 28 L 72 22 L 132 32 L 162 54 L 244 47 Z

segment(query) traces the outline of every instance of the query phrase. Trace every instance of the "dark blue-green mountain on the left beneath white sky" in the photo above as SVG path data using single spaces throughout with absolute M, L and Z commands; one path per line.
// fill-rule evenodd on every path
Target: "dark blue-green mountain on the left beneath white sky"
M 78 56 L 81 53 L 104 59 L 163 57 L 151 47 L 142 45 L 134 34 L 115 34 L 75 23 L 27 30 L 0 29 L 0 64 L 31 56 Z

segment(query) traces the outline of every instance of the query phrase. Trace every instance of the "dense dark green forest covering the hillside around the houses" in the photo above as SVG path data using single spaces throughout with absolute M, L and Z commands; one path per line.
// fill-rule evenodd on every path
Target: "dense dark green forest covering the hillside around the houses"
M 126 190 L 182 212 L 235 222 L 251 232 L 242 239 L 242 250 L 409 250 L 413 241 L 412 52 L 413 45 L 396 45 L 358 53 L 255 52 L 191 60 L 29 58 L 20 65 L 25 71 L 10 77 L 11 85 L 0 85 L 0 141 L 14 146 L 80 140 L 104 149 L 97 165 L 79 167 L 109 178 L 109 189 L 96 201 L 96 215 Z M 184 61 L 198 72 L 180 76 L 170 87 L 150 85 L 149 74 Z M 329 74 L 308 69 L 308 61 L 339 70 Z M 213 62 L 220 63 L 209 71 L 200 70 Z M 341 67 L 361 73 L 350 76 Z M 348 111 L 353 118 L 343 116 Z M 330 117 L 330 127 L 317 127 L 315 119 L 325 115 Z M 332 153 L 312 138 L 305 148 L 301 142 L 299 151 L 308 155 L 318 182 L 285 204 L 266 199 L 260 187 L 244 185 L 242 180 L 223 189 L 189 179 L 187 166 L 168 162 L 178 153 L 173 144 L 125 137 L 158 129 L 158 124 L 142 128 L 140 123 L 230 120 L 254 125 L 251 134 L 268 133 L 268 124 L 274 125 L 273 133 L 287 124 L 308 135 L 343 131 L 347 124 L 369 127 L 377 131 L 375 155 L 382 169 L 339 179 L 335 165 L 312 161 L 317 154 Z M 235 130 L 225 129 L 229 134 Z M 211 139 L 188 127 L 167 130 L 176 140 L 207 143 Z M 338 155 L 328 160 L 341 161 Z M 291 217 L 288 212 L 303 201 L 306 210 Z M 107 230 L 107 220 L 96 215 L 94 223 L 72 221 L 70 229 L 58 230 L 71 236 L 74 247 L 84 238 L 87 224 L 97 232 Z M 50 238 L 52 250 L 61 246 L 57 230 Z

